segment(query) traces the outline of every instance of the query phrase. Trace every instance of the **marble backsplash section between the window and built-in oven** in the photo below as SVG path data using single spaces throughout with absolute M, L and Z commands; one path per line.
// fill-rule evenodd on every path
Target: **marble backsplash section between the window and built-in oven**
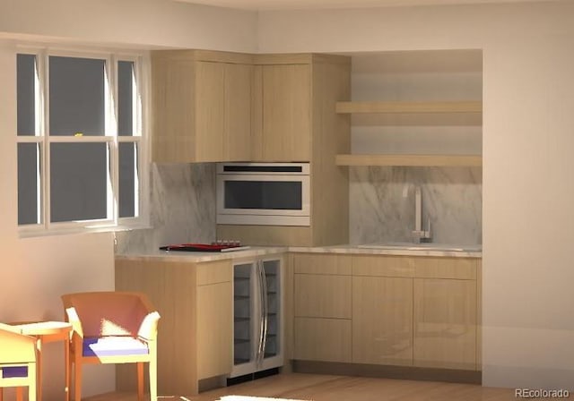
M 215 164 L 152 164 L 150 225 L 117 233 L 117 253 L 215 240 Z

